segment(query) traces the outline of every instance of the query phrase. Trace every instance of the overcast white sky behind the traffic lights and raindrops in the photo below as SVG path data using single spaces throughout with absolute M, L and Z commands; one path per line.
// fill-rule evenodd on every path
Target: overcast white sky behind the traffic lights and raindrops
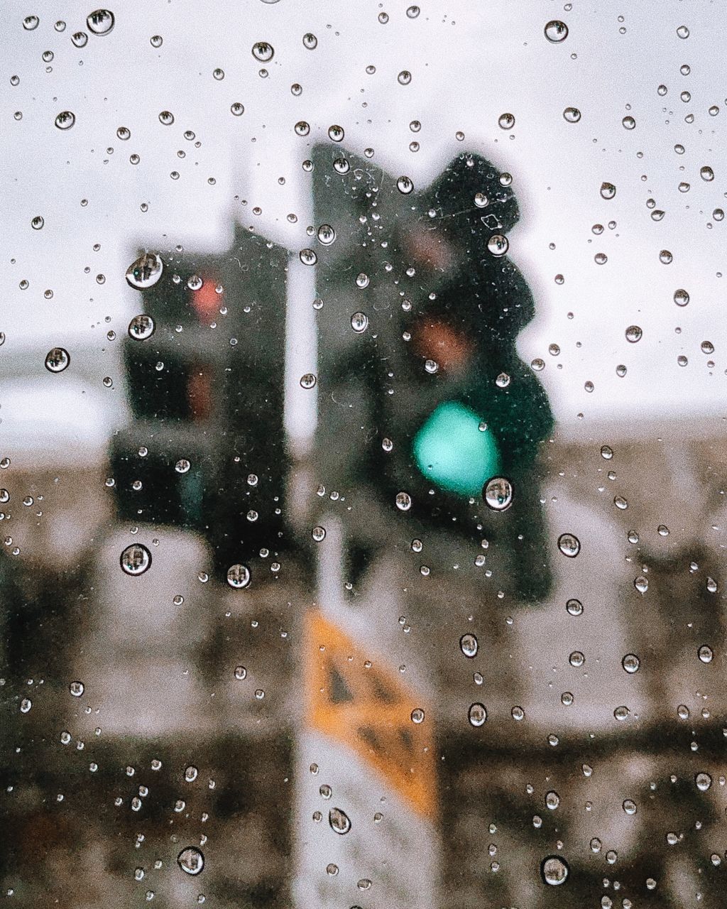
M 115 377 L 118 390 L 119 344 L 105 334 L 111 327 L 122 335 L 134 314 L 124 269 L 140 236 L 154 245 L 163 235 L 168 246 L 224 245 L 234 215 L 291 249 L 307 245 L 310 200 L 301 162 L 336 123 L 344 126 L 348 149 L 360 155 L 373 147 L 374 163 L 411 175 L 416 185 L 465 148 L 513 174 L 523 218 L 510 237 L 511 253 L 533 287 L 538 313 L 519 347 L 526 361 L 545 360 L 540 375 L 563 425 L 577 424 L 579 413 L 594 422 L 722 415 L 727 221 L 712 222 L 713 209 L 727 205 L 722 5 L 421 0 L 416 18 L 406 15 L 409 5 L 124 0 L 109 7 L 114 30 L 90 35 L 77 48 L 71 35 L 87 30 L 93 5 L 5 4 L 5 379 L 27 345 L 45 351 L 61 344 L 77 352 L 79 363 L 85 358 L 89 395 L 93 388 L 104 400 L 105 375 Z M 381 13 L 389 16 L 385 24 Z M 31 14 L 40 25 L 25 31 L 23 17 Z M 66 23 L 63 32 L 54 28 L 58 19 Z M 568 25 L 561 44 L 543 36 L 550 19 Z M 677 35 L 680 25 L 689 28 L 686 39 Z M 307 32 L 318 38 L 314 51 L 303 45 Z M 154 48 L 152 35 L 162 35 L 164 44 Z M 256 41 L 274 46 L 266 78 L 251 53 Z M 50 63 L 42 59 L 46 50 L 54 54 Z M 680 72 L 684 64 L 689 75 Z M 376 67 L 373 75 L 367 65 Z M 214 79 L 215 67 L 224 79 Z M 397 82 L 403 69 L 413 75 L 409 85 Z M 12 75 L 19 85 L 11 85 Z M 297 97 L 294 82 L 303 86 Z M 666 95 L 658 94 L 660 84 Z M 680 97 L 685 91 L 688 101 Z M 244 104 L 240 117 L 230 113 L 235 101 Z M 717 115 L 710 115 L 712 105 Z M 565 122 L 567 106 L 581 110 L 580 122 Z M 76 117 L 65 132 L 54 125 L 63 110 Z M 162 110 L 172 111 L 174 125 L 160 124 Z M 503 112 L 515 116 L 509 132 L 498 126 Z M 635 119 L 634 129 L 622 126 L 625 115 Z M 422 123 L 417 135 L 409 129 L 413 119 Z M 294 135 L 298 120 L 311 124 L 306 138 Z M 116 136 L 121 125 L 131 130 L 126 142 Z M 194 131 L 199 148 L 184 140 L 185 130 Z M 463 143 L 455 139 L 458 130 Z M 421 145 L 415 154 L 414 138 Z M 674 152 L 677 144 L 682 155 Z M 138 165 L 130 164 L 132 153 L 140 155 Z M 713 169 L 712 182 L 700 176 L 704 165 Z M 170 178 L 174 170 L 178 180 Z M 617 187 L 612 200 L 599 195 L 603 181 Z M 680 192 L 682 182 L 688 192 Z M 646 205 L 650 198 L 665 212 L 659 222 Z M 255 205 L 262 215 L 252 214 Z M 286 221 L 289 213 L 297 224 Z M 40 231 L 30 225 L 35 215 L 45 218 Z M 609 221 L 613 229 L 593 235 L 594 223 Z M 662 249 L 671 251 L 670 265 L 660 262 Z M 594 262 L 597 253 L 607 255 L 604 265 Z M 99 273 L 103 285 L 96 283 Z M 564 275 L 563 285 L 555 284 L 556 274 Z M 23 278 L 26 290 L 18 286 Z M 691 295 L 685 308 L 672 301 L 679 287 Z M 624 331 L 634 323 L 643 337 L 631 345 Z M 715 347 L 712 356 L 700 349 L 705 340 Z M 551 344 L 560 345 L 558 357 L 548 354 Z M 677 365 L 678 355 L 688 365 Z M 35 370 L 44 378 L 42 359 L 24 360 L 28 375 Z M 628 367 L 624 378 L 615 374 L 618 364 Z M 592 394 L 583 387 L 588 380 Z M 5 428 L 13 406 L 5 402 Z

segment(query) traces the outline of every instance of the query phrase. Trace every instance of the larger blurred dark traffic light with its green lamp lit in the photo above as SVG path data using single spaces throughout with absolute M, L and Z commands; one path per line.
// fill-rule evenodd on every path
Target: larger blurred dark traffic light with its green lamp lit
M 543 597 L 533 462 L 553 418 L 515 349 L 534 306 L 507 258 L 512 177 L 462 154 L 417 190 L 321 145 L 314 212 L 335 235 L 319 252 L 317 465 L 344 494 L 351 548 L 390 541 L 401 512 L 417 534 L 438 528 L 479 544 L 492 532 L 522 562 L 516 593 Z M 507 515 L 490 510 L 511 504 Z

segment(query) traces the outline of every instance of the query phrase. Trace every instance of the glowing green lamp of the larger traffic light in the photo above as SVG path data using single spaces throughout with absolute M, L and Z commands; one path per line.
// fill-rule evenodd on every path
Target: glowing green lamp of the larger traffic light
M 482 430 L 480 416 L 456 401 L 439 405 L 413 440 L 417 467 L 433 484 L 459 495 L 479 495 L 483 484 L 500 473 L 500 455 L 492 430 Z

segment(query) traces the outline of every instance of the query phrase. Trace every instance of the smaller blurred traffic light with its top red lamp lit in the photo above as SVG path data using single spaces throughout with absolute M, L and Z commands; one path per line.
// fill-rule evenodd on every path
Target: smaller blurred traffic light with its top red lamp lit
M 215 570 L 286 544 L 285 272 L 280 247 L 237 228 L 219 255 L 141 253 L 124 338 L 134 422 L 111 462 L 124 520 L 203 534 Z

